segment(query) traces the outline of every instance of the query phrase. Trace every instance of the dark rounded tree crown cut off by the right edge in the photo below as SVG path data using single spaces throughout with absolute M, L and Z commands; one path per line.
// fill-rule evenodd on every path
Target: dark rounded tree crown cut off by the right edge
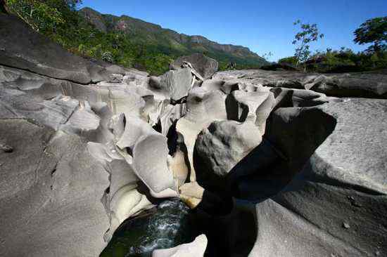
M 353 40 L 355 43 L 372 44 L 368 48 L 369 52 L 387 51 L 387 16 L 367 20 L 353 34 L 355 34 Z

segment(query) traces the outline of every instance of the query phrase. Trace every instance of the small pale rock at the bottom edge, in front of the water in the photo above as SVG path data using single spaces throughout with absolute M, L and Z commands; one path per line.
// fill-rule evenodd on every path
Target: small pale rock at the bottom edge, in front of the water
M 181 244 L 170 249 L 157 249 L 153 251 L 152 257 L 203 257 L 206 247 L 207 237 L 200 235 L 189 244 Z

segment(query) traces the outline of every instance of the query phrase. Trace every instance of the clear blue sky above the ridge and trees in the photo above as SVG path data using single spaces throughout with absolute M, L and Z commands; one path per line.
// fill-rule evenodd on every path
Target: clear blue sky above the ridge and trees
M 221 44 L 247 46 L 270 60 L 293 55 L 295 20 L 317 23 L 325 34 L 312 50 L 353 43 L 353 31 L 369 18 L 387 15 L 387 0 L 83 0 L 101 13 L 129 15 L 189 35 L 203 35 Z

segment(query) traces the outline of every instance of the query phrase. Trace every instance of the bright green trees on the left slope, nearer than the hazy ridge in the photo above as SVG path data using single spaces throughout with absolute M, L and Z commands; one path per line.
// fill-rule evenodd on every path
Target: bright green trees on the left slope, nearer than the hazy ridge
M 80 0 L 6 0 L 9 11 L 70 52 L 152 74 L 168 68 L 169 56 L 144 44 L 134 44 L 122 32 L 101 32 L 77 12 Z

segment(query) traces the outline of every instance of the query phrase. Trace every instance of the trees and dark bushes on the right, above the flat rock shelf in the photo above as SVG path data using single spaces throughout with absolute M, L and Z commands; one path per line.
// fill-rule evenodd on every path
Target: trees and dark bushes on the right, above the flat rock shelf
M 359 53 L 343 47 L 341 50 L 333 51 L 328 48 L 326 51 L 316 51 L 312 54 L 307 43 L 317 40 L 321 35 L 314 25 L 301 25 L 301 27 L 303 31 L 296 34 L 296 41 L 301 42 L 296 49 L 296 55 L 282 58 L 278 61 L 280 64 L 302 66 L 310 72 L 363 72 L 387 67 L 387 17 L 367 20 L 355 30 L 355 43 L 372 44 L 366 51 Z M 305 42 L 305 35 L 310 35 L 310 40 Z M 305 47 L 302 48 L 302 46 Z

